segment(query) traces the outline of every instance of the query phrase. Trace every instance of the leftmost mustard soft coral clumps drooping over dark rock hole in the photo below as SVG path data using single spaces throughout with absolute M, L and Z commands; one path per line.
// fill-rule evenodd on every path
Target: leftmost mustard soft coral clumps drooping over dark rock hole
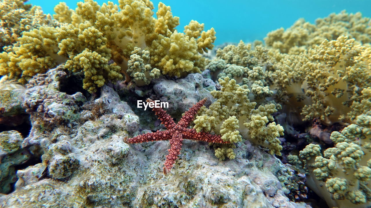
M 122 78 L 120 68 L 108 64 L 110 52 L 106 38 L 89 24 L 80 24 L 79 28 L 72 24 L 60 28 L 40 27 L 24 32 L 19 47 L 1 54 L 4 60 L 0 66 L 9 71 L 0 73 L 9 74 L 10 78 L 20 77 L 19 81 L 25 83 L 29 77 L 66 62 L 70 71 L 84 73 L 83 88 L 93 93 L 106 80 Z

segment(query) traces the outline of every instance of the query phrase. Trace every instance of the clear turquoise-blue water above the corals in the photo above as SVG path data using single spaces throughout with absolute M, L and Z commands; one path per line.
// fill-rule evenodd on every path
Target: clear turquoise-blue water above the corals
M 65 1 L 71 9 L 76 8 L 79 0 Z M 105 0 L 97 0 L 101 5 Z M 117 0 L 113 1 L 118 3 Z M 157 0 L 152 1 L 157 11 Z M 216 45 L 224 42 L 245 42 L 262 40 L 269 31 L 290 27 L 303 17 L 314 23 L 315 19 L 347 10 L 349 13 L 360 11 L 363 16 L 371 17 L 370 0 L 162 0 L 171 6 L 174 16 L 180 17 L 178 31 L 183 31 L 191 20 L 205 23 L 205 29 L 214 27 Z M 53 14 L 53 8 L 59 1 L 30 0 L 39 5 L 45 13 Z

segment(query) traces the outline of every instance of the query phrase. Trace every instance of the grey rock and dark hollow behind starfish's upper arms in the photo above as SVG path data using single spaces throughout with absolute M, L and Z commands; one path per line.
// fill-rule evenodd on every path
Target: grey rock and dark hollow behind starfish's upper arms
M 188 74 L 187 77 L 180 79 L 168 79 L 161 76 L 152 80 L 150 85 L 141 87 L 130 84 L 125 85 L 122 82 L 118 82 L 113 87 L 121 99 L 131 105 L 135 114 L 141 117 L 141 128 L 164 128 L 160 125 L 160 120 L 151 112 L 148 112 L 148 110 L 144 111 L 143 108 L 137 108 L 138 100 L 145 102 L 146 98 L 150 98 L 151 100 L 167 102 L 167 113 L 178 121 L 184 111 L 187 111 L 193 104 L 196 104 L 203 98 L 207 98 L 205 106 L 209 106 L 215 101 L 210 91 L 216 90 L 216 84 L 210 78 L 204 78 L 204 76 L 209 77 L 208 72 L 209 70 L 205 70 L 203 74 Z M 128 93 L 130 96 L 127 96 Z

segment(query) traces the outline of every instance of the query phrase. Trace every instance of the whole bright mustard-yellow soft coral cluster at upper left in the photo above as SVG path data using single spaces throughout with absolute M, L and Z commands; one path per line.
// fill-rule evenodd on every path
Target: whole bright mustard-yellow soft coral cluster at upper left
M 119 5 L 108 2 L 102 6 L 85 0 L 77 6 L 76 11 L 65 3 L 56 6 L 54 17 L 60 27 L 24 32 L 15 47 L 0 54 L 0 75 L 25 83 L 37 73 L 66 63 L 68 70 L 84 74 L 83 88 L 91 93 L 108 80 L 121 79 L 121 74 L 126 81 L 148 84 L 159 73 L 171 77 L 199 73 L 205 66 L 201 53 L 213 48 L 216 39 L 213 28 L 203 31 L 204 25 L 197 21 L 178 33 L 179 18 L 163 3 L 158 5 L 157 19 L 149 0 L 119 0 Z M 142 50 L 150 54 L 148 58 L 146 53 L 143 64 L 157 70 L 131 66 L 128 73 L 133 51 L 140 51 L 137 56 L 142 57 Z

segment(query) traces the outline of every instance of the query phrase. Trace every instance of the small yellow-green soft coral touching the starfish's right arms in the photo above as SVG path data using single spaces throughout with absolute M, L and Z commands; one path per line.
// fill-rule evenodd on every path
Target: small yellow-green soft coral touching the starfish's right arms
M 202 107 L 194 120 L 194 128 L 200 131 L 215 131 L 221 134 L 224 141 L 239 142 L 242 138 L 252 143 L 269 148 L 270 154 L 281 155 L 280 140 L 283 128 L 273 122 L 272 114 L 275 113 L 275 104 L 260 105 L 255 109 L 256 103 L 250 102 L 249 90 L 236 84 L 236 80 L 229 77 L 219 79 L 222 86 L 220 91 L 212 91 L 211 94 L 217 100 L 210 105 L 209 109 Z M 216 156 L 221 155 L 221 150 Z M 224 150 L 231 156 L 230 150 Z M 220 158 L 220 157 L 219 157 Z

